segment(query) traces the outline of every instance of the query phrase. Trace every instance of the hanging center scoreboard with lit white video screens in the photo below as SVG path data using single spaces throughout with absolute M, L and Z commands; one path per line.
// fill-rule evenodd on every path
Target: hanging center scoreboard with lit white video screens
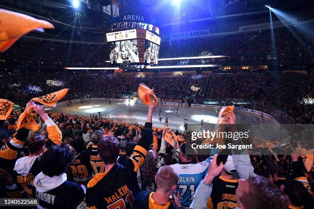
M 145 30 L 131 29 L 106 34 L 111 64 L 158 64 L 160 36 Z

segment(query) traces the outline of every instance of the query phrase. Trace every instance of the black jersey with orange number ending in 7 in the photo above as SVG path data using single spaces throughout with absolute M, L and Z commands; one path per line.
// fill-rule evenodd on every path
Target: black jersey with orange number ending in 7
M 105 163 L 100 159 L 97 152 L 96 144 L 88 144 L 86 155 L 89 159 L 93 175 L 103 173 L 105 171 Z

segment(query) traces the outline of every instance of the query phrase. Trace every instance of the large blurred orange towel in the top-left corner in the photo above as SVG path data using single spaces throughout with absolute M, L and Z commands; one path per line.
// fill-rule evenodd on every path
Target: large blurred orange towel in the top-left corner
M 54 28 L 45 20 L 0 9 L 0 52 L 9 49 L 19 37 L 32 30 L 43 32 L 43 28 Z

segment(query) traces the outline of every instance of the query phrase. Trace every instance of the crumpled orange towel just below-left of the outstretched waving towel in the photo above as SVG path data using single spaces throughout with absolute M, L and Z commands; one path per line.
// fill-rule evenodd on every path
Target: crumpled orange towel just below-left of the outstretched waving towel
M 36 123 L 36 120 L 33 117 L 33 106 L 30 106 L 27 110 L 25 110 L 21 115 L 18 117 L 17 121 L 17 129 L 28 129 L 32 131 L 40 130 L 41 126 Z

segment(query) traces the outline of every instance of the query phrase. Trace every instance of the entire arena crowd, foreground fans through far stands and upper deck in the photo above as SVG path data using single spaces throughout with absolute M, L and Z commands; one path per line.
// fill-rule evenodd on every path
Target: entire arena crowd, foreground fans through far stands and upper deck
M 282 31 L 276 31 L 276 36 L 291 44 L 279 43 L 270 50 L 267 35 L 219 38 L 218 44 L 198 40 L 196 48 L 184 41 L 183 47 L 180 42 L 174 43 L 174 47 L 180 45 L 182 49 L 177 53 L 168 49 L 164 52 L 182 56 L 298 51 L 300 60 L 312 59 L 302 54 L 304 48 Z M 304 40 L 310 49 L 308 37 Z M 0 198 L 6 198 L 2 204 L 27 203 L 28 208 L 49 209 L 312 208 L 314 160 L 310 128 L 293 135 L 285 144 L 254 137 L 254 149 L 246 147 L 249 139 L 204 137 L 197 141 L 222 142 L 220 145 L 232 142 L 241 149 L 232 149 L 230 153 L 218 148 L 191 151 L 191 131 L 174 132 L 167 127 L 168 122 L 162 129 L 153 127 L 152 115 L 159 104 L 156 100 L 147 104 L 145 124 L 130 124 L 94 115 L 46 112 L 44 105 L 53 107 L 68 90 L 37 96 L 67 87 L 70 92 L 64 100 L 125 98 L 136 96 L 139 83 L 145 83 L 162 100 L 185 100 L 190 104 L 209 98 L 224 106 L 241 101 L 246 107 L 281 116 L 285 122 L 313 123 L 313 104 L 309 103 L 313 101 L 313 74 L 141 77 L 60 71 L 65 65 L 104 66 L 102 50 L 101 46 L 82 48 L 45 41 L 26 45 L 19 41 L 3 54 L 0 61 L 4 67 L 37 71 L 5 69 L 0 74 Z M 290 55 L 283 58 L 296 58 Z M 41 71 L 42 67 L 52 70 Z M 229 133 L 240 135 L 233 107 L 221 108 L 217 123 L 215 128 L 223 124 L 228 137 Z

